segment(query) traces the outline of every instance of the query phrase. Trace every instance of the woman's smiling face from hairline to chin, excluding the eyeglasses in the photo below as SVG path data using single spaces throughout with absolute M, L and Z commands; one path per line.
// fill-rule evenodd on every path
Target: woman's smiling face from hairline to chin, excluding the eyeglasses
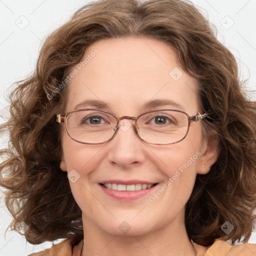
M 174 50 L 162 41 L 146 37 L 100 40 L 86 49 L 84 59 L 74 66 L 76 71 L 72 69 L 75 74 L 67 85 L 65 111 L 98 108 L 116 116 L 166 108 L 190 115 L 201 112 L 197 81 L 182 70 Z M 172 102 L 142 107 L 156 99 Z M 108 108 L 83 104 L 85 100 L 104 101 Z M 206 173 L 216 160 L 215 146 L 202 136 L 201 122 L 191 122 L 183 140 L 167 145 L 142 141 L 126 119 L 116 136 L 103 144 L 76 142 L 63 129 L 60 167 L 69 173 L 84 228 L 119 236 L 167 226 L 182 229 L 196 173 Z M 157 184 L 148 190 L 118 192 L 100 184 L 105 182 Z

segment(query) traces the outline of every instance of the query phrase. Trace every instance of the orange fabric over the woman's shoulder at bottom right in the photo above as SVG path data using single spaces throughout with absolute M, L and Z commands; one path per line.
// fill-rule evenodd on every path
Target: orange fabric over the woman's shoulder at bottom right
M 227 241 L 216 239 L 204 256 L 255 256 L 256 244 L 242 243 L 230 245 Z

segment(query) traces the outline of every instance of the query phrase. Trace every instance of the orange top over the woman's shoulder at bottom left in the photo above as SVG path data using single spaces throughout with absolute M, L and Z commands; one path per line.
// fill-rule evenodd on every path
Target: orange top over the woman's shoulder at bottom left
M 67 238 L 48 249 L 29 254 L 28 256 L 78 256 L 82 246 L 81 238 L 81 236 Z

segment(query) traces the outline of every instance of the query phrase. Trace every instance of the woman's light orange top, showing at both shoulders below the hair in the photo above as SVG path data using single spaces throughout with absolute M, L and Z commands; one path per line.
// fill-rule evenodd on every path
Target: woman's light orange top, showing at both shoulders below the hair
M 49 249 L 32 253 L 28 256 L 80 256 L 82 240 L 80 237 L 65 239 L 52 245 Z M 228 242 L 216 239 L 203 256 L 255 256 L 256 244 L 243 243 L 230 245 Z M 201 255 L 202 256 L 202 255 Z

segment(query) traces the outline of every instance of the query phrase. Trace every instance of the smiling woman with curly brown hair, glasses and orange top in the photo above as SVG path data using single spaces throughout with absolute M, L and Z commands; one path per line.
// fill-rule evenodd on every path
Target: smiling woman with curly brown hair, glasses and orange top
M 66 238 L 31 255 L 256 254 L 256 103 L 190 3 L 84 6 L 10 99 L 11 227 Z

